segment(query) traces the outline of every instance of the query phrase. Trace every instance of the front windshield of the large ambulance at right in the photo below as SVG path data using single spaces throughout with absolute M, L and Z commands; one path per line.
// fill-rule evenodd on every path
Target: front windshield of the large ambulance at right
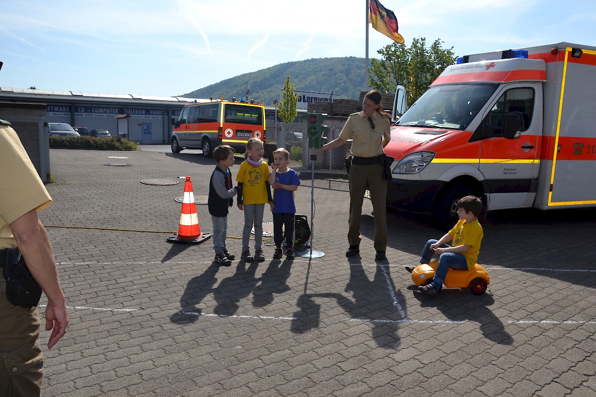
M 465 130 L 498 84 L 430 87 L 399 119 L 400 126 Z

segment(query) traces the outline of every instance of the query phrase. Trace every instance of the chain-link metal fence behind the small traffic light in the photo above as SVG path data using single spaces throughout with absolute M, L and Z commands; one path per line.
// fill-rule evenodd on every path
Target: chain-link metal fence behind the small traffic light
M 345 123 L 342 120 L 327 120 L 327 142 L 336 139 Z M 286 148 L 290 152 L 291 167 L 296 171 L 311 170 L 310 154 L 313 149 L 308 147 L 308 136 L 306 135 L 306 123 L 280 124 L 277 134 L 277 147 Z M 317 152 L 315 161 L 315 172 L 327 174 L 346 174 L 344 160 L 352 147 L 352 140 L 339 148 Z

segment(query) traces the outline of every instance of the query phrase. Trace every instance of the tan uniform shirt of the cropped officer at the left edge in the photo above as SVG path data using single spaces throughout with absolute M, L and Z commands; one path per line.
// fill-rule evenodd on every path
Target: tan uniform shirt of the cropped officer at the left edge
M 17 133 L 10 126 L 0 125 L 0 249 L 17 246 L 9 224 L 50 204 L 52 198 Z

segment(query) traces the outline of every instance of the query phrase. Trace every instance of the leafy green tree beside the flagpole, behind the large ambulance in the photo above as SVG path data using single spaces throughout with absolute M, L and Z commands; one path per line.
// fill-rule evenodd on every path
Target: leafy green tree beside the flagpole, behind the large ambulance
M 426 48 L 426 39 L 420 37 L 409 48 L 396 42 L 381 48 L 377 51 L 381 60 L 371 60 L 369 85 L 380 92 L 395 92 L 396 86 L 404 86 L 408 104 L 413 104 L 455 62 L 453 47 L 442 48 L 442 44 L 436 39 Z

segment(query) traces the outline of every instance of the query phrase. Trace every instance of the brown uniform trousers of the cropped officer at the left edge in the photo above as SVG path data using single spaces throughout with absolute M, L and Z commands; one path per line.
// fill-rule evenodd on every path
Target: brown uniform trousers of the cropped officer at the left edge
M 8 302 L 6 282 L 0 275 L 0 396 L 41 395 L 44 356 L 39 346 L 40 326 L 36 307 Z

